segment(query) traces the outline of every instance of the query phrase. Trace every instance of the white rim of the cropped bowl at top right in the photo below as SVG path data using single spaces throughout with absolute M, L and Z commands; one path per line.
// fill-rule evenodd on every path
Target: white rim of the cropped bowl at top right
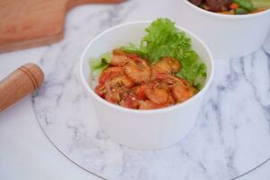
M 184 1 L 185 4 L 187 4 L 188 6 L 193 8 L 193 10 L 196 11 L 196 12 L 199 12 L 201 14 L 210 15 L 211 17 L 216 17 L 216 18 L 220 18 L 220 19 L 240 20 L 240 19 L 259 17 L 259 16 L 262 16 L 262 15 L 265 15 L 265 14 L 268 14 L 268 13 L 270 14 L 270 8 L 263 11 L 263 12 L 259 12 L 259 13 L 256 13 L 256 14 L 240 14 L 240 15 L 236 15 L 236 14 L 218 14 L 218 13 L 214 13 L 214 12 L 202 9 L 201 7 L 198 7 L 195 4 L 192 4 L 188 0 L 181 0 L 181 1 Z

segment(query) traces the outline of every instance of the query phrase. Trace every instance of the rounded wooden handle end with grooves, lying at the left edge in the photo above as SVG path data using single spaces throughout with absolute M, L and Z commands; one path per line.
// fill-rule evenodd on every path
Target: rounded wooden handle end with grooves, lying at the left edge
M 42 85 L 44 74 L 36 64 L 25 64 L 0 82 L 0 112 Z

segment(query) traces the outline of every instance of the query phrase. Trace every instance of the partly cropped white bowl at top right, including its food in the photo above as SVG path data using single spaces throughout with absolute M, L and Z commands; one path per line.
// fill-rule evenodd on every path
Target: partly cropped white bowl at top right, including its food
M 239 58 L 264 44 L 270 29 L 268 0 L 220 0 L 220 5 L 215 3 L 214 7 L 205 6 L 206 2 L 214 2 L 211 0 L 198 4 L 190 1 L 177 1 L 180 10 L 176 23 L 202 38 L 214 58 Z M 205 3 L 204 8 L 200 2 Z

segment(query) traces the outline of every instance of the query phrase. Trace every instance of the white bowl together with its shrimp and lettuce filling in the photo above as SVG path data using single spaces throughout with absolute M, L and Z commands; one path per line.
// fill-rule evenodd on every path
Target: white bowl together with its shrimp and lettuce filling
M 202 40 L 159 18 L 103 31 L 86 47 L 80 75 L 101 129 L 130 148 L 154 149 L 193 128 L 213 68 Z

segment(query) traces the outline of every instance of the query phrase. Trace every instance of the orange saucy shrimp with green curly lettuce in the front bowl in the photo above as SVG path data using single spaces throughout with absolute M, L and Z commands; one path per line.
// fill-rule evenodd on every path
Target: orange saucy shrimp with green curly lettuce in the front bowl
M 151 110 L 183 103 L 202 88 L 206 66 L 184 32 L 164 18 L 147 31 L 139 46 L 130 44 L 90 59 L 97 78 L 94 92 L 104 100 Z

